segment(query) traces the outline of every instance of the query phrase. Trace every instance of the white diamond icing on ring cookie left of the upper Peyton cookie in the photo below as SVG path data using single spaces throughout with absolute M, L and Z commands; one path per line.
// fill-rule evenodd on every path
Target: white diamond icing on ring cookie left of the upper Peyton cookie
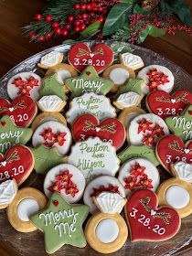
M 59 106 L 62 104 L 62 100 L 57 95 L 48 95 L 43 96 L 38 104 L 42 107 L 42 109 L 46 112 L 55 112 L 59 109 Z

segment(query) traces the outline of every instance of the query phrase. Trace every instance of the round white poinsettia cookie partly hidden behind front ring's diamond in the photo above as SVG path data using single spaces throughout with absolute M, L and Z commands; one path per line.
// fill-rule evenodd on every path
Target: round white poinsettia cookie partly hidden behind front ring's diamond
M 90 208 L 91 214 L 94 214 L 97 210 L 93 198 L 97 197 L 101 192 L 118 193 L 121 197 L 125 198 L 125 192 L 121 182 L 113 176 L 98 176 L 91 180 L 91 182 L 85 187 L 83 201 L 85 205 Z M 122 205 L 122 204 L 121 204 Z M 123 205 L 122 205 L 123 208 Z M 122 208 L 117 211 L 121 212 Z

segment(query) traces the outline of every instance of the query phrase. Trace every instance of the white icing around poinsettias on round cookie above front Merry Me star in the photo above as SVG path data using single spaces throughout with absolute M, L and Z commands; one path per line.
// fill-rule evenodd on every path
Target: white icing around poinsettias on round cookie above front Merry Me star
M 44 180 L 44 192 L 46 196 L 49 198 L 51 196 L 51 191 L 48 190 L 48 187 L 51 186 L 52 182 L 56 182 L 55 177 L 59 176 L 60 171 L 66 171 L 69 170 L 69 174 L 72 175 L 70 180 L 77 185 L 77 188 L 79 192 L 75 194 L 75 197 L 72 197 L 71 195 L 67 195 L 65 193 L 65 189 L 62 189 L 60 191 L 60 195 L 69 203 L 76 203 L 80 200 L 80 197 L 82 197 L 84 188 L 85 188 L 85 178 L 80 172 L 80 170 L 75 167 L 74 165 L 69 164 L 61 164 L 53 167 L 50 169 L 45 177 Z M 65 185 L 65 184 L 64 184 Z

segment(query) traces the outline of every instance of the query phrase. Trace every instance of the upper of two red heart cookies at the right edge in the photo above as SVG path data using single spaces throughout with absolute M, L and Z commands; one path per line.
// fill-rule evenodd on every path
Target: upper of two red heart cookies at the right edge
M 146 106 L 150 112 L 154 112 L 161 118 L 178 115 L 187 105 L 192 103 L 192 94 L 189 91 L 176 91 L 170 95 L 165 91 L 154 91 L 146 98 Z

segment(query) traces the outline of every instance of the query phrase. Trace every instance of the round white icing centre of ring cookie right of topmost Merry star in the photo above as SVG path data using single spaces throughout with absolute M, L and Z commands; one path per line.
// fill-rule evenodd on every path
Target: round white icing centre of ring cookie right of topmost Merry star
M 115 68 L 110 72 L 110 79 L 114 84 L 123 84 L 129 79 L 129 72 L 123 68 Z

